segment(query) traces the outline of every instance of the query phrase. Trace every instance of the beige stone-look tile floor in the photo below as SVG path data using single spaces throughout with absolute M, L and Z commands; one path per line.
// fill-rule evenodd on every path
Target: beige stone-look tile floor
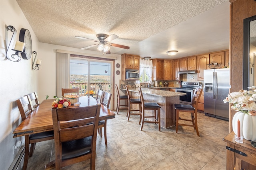
M 181 113 L 180 117 L 185 113 Z M 126 121 L 126 111 L 107 121 L 108 146 L 104 135 L 97 137 L 96 170 L 226 170 L 228 121 L 198 113 L 200 137 L 193 127 L 161 128 L 144 123 L 140 131 L 138 115 Z M 54 141 L 36 144 L 27 170 L 43 170 L 54 159 Z M 90 160 L 67 166 L 65 170 L 90 170 Z

